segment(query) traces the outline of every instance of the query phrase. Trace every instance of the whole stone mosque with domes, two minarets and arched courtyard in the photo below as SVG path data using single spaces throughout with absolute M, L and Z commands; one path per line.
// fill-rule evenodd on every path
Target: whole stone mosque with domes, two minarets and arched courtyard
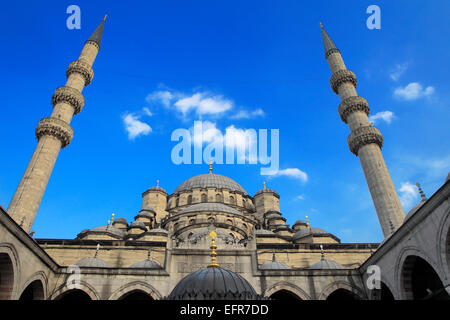
M 0 299 L 449 299 L 450 175 L 429 198 L 420 190 L 421 202 L 405 215 L 369 104 L 322 25 L 331 89 L 341 99 L 381 243 L 341 243 L 307 219 L 290 226 L 275 190 L 250 195 L 211 165 L 171 193 L 159 184 L 143 192 L 133 221 L 112 217 L 74 239 L 35 239 L 30 230 L 56 158 L 73 137 L 70 122 L 93 79 L 104 23 L 69 65 L 51 116 L 37 125 L 37 147 L 13 199 L 0 207 Z

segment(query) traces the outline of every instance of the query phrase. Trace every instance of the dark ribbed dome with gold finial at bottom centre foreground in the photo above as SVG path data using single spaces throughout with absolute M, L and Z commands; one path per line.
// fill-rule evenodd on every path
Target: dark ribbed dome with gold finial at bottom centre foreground
M 257 300 L 251 284 L 239 274 L 219 267 L 197 270 L 183 279 L 169 300 Z

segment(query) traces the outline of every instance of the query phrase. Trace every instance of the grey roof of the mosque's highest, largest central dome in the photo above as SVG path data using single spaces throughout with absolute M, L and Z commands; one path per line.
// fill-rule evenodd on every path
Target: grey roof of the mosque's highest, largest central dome
M 187 179 L 175 189 L 174 193 L 189 191 L 195 188 L 218 188 L 247 194 L 239 183 L 220 174 L 206 173 Z

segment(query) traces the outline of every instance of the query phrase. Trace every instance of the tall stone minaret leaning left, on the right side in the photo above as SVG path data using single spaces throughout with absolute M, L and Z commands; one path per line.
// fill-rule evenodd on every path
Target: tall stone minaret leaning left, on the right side
M 340 51 L 325 32 L 322 23 L 320 27 L 325 59 L 332 73 L 330 85 L 341 98 L 339 115 L 351 131 L 347 142 L 350 151 L 359 157 L 383 234 L 387 237 L 403 223 L 405 213 L 381 154 L 383 136 L 369 123 L 369 104 L 356 93 L 355 74 L 345 67 Z

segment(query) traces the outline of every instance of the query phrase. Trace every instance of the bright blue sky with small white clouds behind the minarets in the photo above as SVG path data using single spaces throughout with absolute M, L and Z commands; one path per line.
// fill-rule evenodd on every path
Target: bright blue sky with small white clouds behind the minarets
M 66 27 L 71 4 L 81 9 L 80 30 Z M 371 4 L 381 9 L 380 30 L 366 27 Z M 207 173 L 207 164 L 171 161 L 173 130 L 201 120 L 213 133 L 232 128 L 237 137 L 279 129 L 283 175 L 264 177 L 250 164 L 215 165 L 214 172 L 251 195 L 266 181 L 280 194 L 288 224 L 308 215 L 343 242 L 381 241 L 329 86 L 319 21 L 377 115 L 372 121 L 405 210 L 419 201 L 416 182 L 431 196 L 450 171 L 448 1 L 9 2 L 0 12 L 3 207 L 34 151 L 38 121 L 52 111 L 54 90 L 105 13 L 95 76 L 44 194 L 36 237 L 74 238 L 106 224 L 112 212 L 130 221 L 157 179 L 171 193 Z

